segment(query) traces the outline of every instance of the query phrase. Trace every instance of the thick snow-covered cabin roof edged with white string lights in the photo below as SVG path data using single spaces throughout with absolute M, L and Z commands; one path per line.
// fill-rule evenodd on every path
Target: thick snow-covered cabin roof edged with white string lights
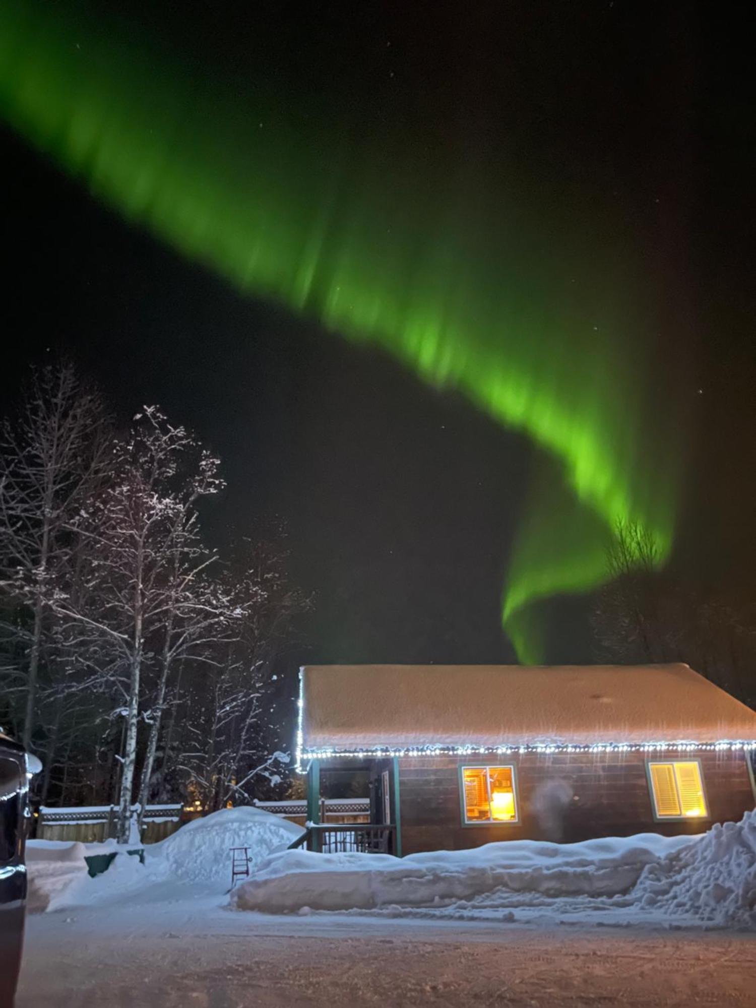
M 299 748 L 756 741 L 756 714 L 688 665 L 306 665 Z

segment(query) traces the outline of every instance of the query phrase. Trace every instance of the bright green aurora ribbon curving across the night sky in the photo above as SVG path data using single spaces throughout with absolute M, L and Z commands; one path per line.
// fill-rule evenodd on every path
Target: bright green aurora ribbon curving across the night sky
M 0 109 L 183 256 L 383 348 L 538 447 L 502 600 L 521 660 L 542 656 L 538 602 L 601 583 L 618 522 L 668 553 L 679 452 L 673 424 L 652 432 L 646 415 L 656 307 L 621 222 L 597 210 L 576 228 L 570 200 L 542 206 L 514 157 L 471 167 L 406 122 L 240 94 L 31 3 L 0 5 Z

